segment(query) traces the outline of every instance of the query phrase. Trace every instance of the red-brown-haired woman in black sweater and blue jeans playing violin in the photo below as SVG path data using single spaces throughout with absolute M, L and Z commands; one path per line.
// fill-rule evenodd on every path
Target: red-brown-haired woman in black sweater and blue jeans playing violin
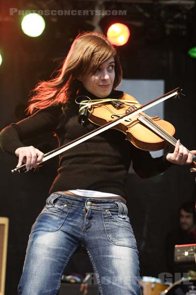
M 98 33 L 79 34 L 56 78 L 36 86 L 28 107 L 31 116 L 1 131 L 1 148 L 29 171 L 44 154 L 25 147 L 23 140 L 54 131 L 61 146 L 96 129 L 88 120 L 78 122 L 76 97 L 121 98 L 123 91 L 115 90 L 121 80 L 118 54 L 108 40 Z M 152 177 L 172 163 L 193 159 L 179 141 L 172 153 L 152 158 L 114 129 L 62 153 L 46 206 L 31 229 L 19 295 L 57 294 L 79 245 L 89 255 L 100 294 L 140 294 L 138 250 L 124 190 L 131 161 L 140 177 Z

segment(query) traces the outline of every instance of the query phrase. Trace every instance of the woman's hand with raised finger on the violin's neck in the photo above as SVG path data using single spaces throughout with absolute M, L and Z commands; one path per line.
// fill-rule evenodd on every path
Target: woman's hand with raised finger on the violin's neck
M 196 154 L 196 150 L 191 150 L 192 153 Z M 187 165 L 193 163 L 193 156 L 187 151 L 185 147 L 180 145 L 180 140 L 176 142 L 174 151 L 166 155 L 166 159 L 178 165 Z

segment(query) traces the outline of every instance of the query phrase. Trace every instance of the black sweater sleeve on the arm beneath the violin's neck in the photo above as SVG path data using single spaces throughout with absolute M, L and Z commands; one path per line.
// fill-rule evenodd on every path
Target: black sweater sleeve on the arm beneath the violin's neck
M 149 151 L 131 146 L 133 169 L 141 178 L 159 175 L 174 165 L 166 159 L 166 155 L 153 158 Z

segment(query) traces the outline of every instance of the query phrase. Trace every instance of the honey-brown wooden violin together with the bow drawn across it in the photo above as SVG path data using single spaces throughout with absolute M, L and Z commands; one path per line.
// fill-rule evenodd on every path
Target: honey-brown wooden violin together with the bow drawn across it
M 150 101 L 145 105 L 140 105 L 139 102 L 129 94 L 124 94 L 120 99 L 106 98 L 91 100 L 83 99 L 80 102 L 80 112 L 85 110 L 87 118 L 90 122 L 99 125 L 96 130 L 93 130 L 72 142 L 49 151 L 44 155 L 42 162 L 36 164 L 37 168 L 43 162 L 50 158 L 75 147 L 76 145 L 102 133 L 110 128 L 117 129 L 126 134 L 126 139 L 129 140 L 135 147 L 153 151 L 162 148 L 168 148 L 169 145 L 175 147 L 177 140 L 172 136 L 175 133 L 175 128 L 170 122 L 162 120 L 158 117 L 149 117 L 144 111 L 152 106 L 172 97 L 178 96 L 182 89 L 176 88 L 172 91 Z M 191 172 L 196 172 L 196 155 L 187 149 L 193 156 L 193 167 Z M 11 170 L 14 172 L 27 172 L 25 164 Z

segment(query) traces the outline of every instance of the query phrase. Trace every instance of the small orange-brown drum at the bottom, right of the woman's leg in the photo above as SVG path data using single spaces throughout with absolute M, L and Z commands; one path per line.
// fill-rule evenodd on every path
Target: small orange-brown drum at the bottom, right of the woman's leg
M 161 279 L 154 277 L 142 277 L 140 281 L 142 295 L 160 295 L 160 293 L 168 288 L 168 285 L 163 284 Z

